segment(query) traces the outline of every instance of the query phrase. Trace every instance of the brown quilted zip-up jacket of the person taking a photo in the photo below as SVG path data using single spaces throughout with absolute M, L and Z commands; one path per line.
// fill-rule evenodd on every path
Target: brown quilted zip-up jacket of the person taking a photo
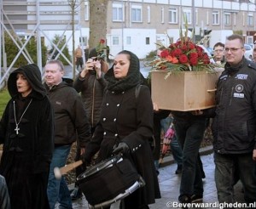
M 73 82 L 73 88 L 78 93 L 81 93 L 90 126 L 96 127 L 97 122 L 100 120 L 102 99 L 107 82 L 103 74 L 100 78 L 96 78 L 96 72 L 90 73 L 89 71 L 84 79 L 80 78 L 79 75 Z

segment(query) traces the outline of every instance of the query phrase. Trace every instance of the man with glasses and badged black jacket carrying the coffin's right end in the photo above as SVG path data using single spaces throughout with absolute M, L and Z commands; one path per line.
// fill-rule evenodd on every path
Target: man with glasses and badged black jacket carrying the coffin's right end
M 231 35 L 224 46 L 226 64 L 218 79 L 212 123 L 215 181 L 220 203 L 234 203 L 239 173 L 247 203 L 256 202 L 256 65 L 244 58 L 243 37 Z

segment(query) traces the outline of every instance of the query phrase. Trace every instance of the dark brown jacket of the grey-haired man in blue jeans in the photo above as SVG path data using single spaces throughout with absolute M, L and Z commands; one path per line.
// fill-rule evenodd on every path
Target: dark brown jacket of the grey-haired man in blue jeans
M 90 141 L 90 124 L 79 93 L 66 81 L 50 89 L 44 86 L 55 110 L 55 144 L 73 144 L 78 139 L 85 147 Z

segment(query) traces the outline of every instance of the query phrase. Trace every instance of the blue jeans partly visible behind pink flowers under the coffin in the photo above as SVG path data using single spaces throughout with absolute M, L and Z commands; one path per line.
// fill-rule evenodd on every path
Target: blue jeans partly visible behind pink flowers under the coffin
M 161 123 L 161 127 L 164 130 L 164 133 L 166 133 L 166 131 L 168 130 L 168 128 L 170 127 L 170 125 L 172 123 L 172 117 L 168 116 L 165 119 L 162 119 L 160 121 L 160 123 Z M 176 161 L 177 165 L 182 165 L 183 164 L 183 150 L 181 149 L 180 145 L 178 144 L 176 135 L 172 138 L 170 146 L 171 146 L 174 161 Z

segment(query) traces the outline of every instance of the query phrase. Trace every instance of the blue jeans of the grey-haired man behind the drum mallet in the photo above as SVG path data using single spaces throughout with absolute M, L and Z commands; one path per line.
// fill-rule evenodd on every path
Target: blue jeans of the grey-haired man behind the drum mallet
M 49 208 L 54 209 L 55 203 L 60 203 L 60 209 L 72 209 L 72 201 L 65 178 L 56 179 L 54 174 L 55 167 L 64 167 L 69 155 L 71 145 L 55 147 L 53 157 L 49 167 L 49 181 L 47 195 L 49 199 Z

